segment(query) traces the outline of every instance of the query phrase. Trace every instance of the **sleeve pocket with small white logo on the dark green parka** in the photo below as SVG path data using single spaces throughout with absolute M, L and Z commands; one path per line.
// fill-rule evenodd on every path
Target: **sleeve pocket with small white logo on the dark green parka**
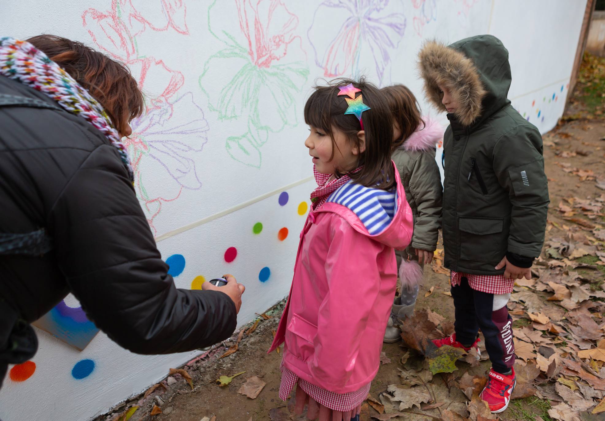
M 534 162 L 508 169 L 512 192 L 519 200 L 532 200 L 537 197 L 548 200 L 548 180 L 544 172 L 544 160 L 540 158 Z

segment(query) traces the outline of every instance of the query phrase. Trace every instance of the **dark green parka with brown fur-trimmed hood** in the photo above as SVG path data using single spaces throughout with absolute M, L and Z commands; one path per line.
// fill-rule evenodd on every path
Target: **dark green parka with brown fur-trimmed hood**
M 433 105 L 443 109 L 439 85 L 459 103 L 443 136 L 445 267 L 497 275 L 504 256 L 531 266 L 544 242 L 548 181 L 540 132 L 506 97 L 508 50 L 481 35 L 429 42 L 419 58 Z

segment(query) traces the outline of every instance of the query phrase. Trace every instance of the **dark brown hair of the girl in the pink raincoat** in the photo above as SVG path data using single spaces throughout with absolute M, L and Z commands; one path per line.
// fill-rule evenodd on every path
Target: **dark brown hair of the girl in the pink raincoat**
M 330 134 L 332 139 L 332 157 L 338 148 L 333 131 L 336 129 L 347 135 L 350 142 L 359 147 L 358 132 L 361 131 L 359 120 L 354 114 L 345 114 L 348 105 L 345 98 L 338 96 L 339 86 L 352 83 L 363 96 L 365 105 L 370 109 L 364 111 L 361 119 L 365 129 L 365 151 L 358 155 L 354 168 L 345 168 L 345 174 L 362 186 L 390 190 L 395 185 L 393 163 L 391 163 L 391 146 L 393 145 L 393 122 L 388 111 L 387 103 L 381 91 L 362 77 L 358 81 L 352 79 L 335 79 L 327 86 L 315 86 L 315 92 L 309 97 L 304 106 L 304 120 L 310 126 Z M 363 166 L 360 171 L 354 171 Z M 336 173 L 337 177 L 343 174 Z

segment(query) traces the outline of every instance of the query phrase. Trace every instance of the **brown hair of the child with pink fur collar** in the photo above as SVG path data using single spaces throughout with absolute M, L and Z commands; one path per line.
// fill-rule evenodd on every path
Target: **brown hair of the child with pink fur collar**
M 418 129 L 424 121 L 420 113 L 420 105 L 413 93 L 404 85 L 386 86 L 381 89 L 391 110 L 393 120 L 399 126 L 401 136 L 394 140 L 393 149 L 403 145 L 405 139 Z

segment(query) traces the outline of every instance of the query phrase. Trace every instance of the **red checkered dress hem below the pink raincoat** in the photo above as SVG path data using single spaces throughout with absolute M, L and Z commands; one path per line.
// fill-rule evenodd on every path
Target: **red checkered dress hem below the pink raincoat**
M 296 383 L 301 389 L 308 394 L 310 397 L 315 399 L 316 402 L 324 405 L 326 408 L 330 408 L 333 411 L 353 411 L 359 405 L 361 405 L 370 393 L 370 385 L 368 383 L 365 386 L 359 388 L 354 392 L 349 393 L 334 393 L 329 390 L 322 389 L 312 383 L 307 382 L 296 376 L 292 371 L 285 367 L 280 367 L 281 370 L 281 384 L 280 384 L 280 399 L 287 400 L 292 392 Z

